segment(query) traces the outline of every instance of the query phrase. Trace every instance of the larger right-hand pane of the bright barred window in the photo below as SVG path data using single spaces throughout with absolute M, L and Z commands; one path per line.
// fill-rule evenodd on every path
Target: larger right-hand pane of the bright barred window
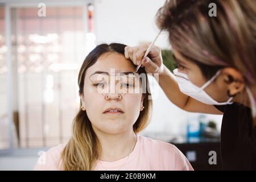
M 85 58 L 82 7 L 13 9 L 18 143 L 47 147 L 71 136 L 79 107 L 76 77 Z

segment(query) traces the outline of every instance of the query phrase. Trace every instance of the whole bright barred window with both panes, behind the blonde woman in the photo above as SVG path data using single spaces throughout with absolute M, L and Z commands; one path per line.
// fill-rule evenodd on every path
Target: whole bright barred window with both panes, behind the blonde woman
M 0 150 L 9 148 L 9 136 L 21 149 L 51 147 L 71 137 L 80 104 L 77 76 L 95 41 L 88 26 L 92 5 L 86 9 L 85 2 L 47 6 L 42 17 L 37 6 L 10 6 L 13 121 L 7 107 L 5 7 L 0 7 Z

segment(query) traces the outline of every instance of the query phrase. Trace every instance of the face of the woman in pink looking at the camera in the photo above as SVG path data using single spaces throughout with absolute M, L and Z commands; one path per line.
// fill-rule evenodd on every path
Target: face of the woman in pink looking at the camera
M 113 52 L 104 53 L 86 70 L 84 93 L 80 97 L 94 130 L 118 134 L 133 129 L 143 107 L 143 95 L 141 92 L 120 93 L 115 88 L 118 79 L 113 75 L 115 72 L 133 71 L 130 60 Z M 106 81 L 109 81 L 108 84 L 104 83 Z M 99 89 L 102 88 L 99 85 L 104 86 L 104 92 Z

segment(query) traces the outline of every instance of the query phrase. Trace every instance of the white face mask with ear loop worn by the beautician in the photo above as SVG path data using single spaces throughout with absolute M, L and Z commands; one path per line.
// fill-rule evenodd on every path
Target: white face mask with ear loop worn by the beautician
M 177 72 L 177 69 L 174 69 L 174 75 L 176 77 L 177 83 L 179 85 L 180 91 L 184 94 L 195 98 L 195 100 L 198 100 L 200 102 L 203 102 L 204 104 L 209 105 L 227 105 L 227 104 L 233 104 L 231 102 L 233 100 L 233 97 L 230 97 L 228 101 L 226 102 L 217 102 L 212 97 L 210 97 L 204 89 L 207 88 L 207 86 L 215 80 L 215 78 L 220 75 L 220 70 L 212 77 L 210 80 L 208 80 L 201 88 L 198 86 L 192 84 L 191 81 L 189 81 L 188 76 L 184 73 Z

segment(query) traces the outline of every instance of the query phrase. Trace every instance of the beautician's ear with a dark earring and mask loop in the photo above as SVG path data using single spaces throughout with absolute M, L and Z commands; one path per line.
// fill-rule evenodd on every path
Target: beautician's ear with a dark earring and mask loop
M 222 69 L 222 74 L 224 74 L 224 82 L 227 86 L 229 97 L 234 97 L 243 92 L 245 81 L 240 71 L 235 68 L 224 68 Z

